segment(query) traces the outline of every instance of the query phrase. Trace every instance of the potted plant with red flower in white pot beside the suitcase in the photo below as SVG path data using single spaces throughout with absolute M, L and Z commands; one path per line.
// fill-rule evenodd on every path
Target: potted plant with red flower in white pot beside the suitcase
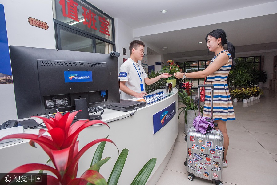
M 184 133 L 187 134 L 187 131 L 190 127 L 193 127 L 193 120 L 197 116 L 197 110 L 198 110 L 198 105 L 194 102 L 194 99 L 190 97 L 191 92 L 191 87 L 193 86 L 192 83 L 186 82 L 184 83 L 185 89 L 179 89 L 178 90 L 178 96 L 179 96 L 179 101 L 180 103 L 183 103 L 184 107 L 179 107 L 179 115 L 178 115 L 178 120 L 180 120 L 180 115 L 183 112 L 184 114 L 184 121 L 185 121 L 185 131 Z M 203 107 L 200 107 L 201 113 L 203 112 Z

